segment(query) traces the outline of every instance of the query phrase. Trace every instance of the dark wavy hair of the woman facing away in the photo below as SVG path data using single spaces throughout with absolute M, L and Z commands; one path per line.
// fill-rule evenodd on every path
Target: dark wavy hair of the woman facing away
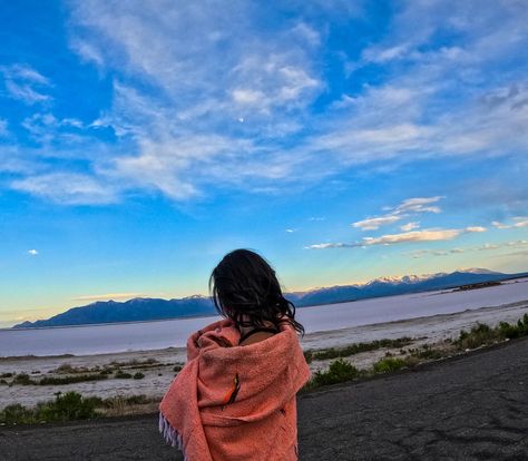
M 295 321 L 295 306 L 286 300 L 273 267 L 250 249 L 226 254 L 213 269 L 209 291 L 221 315 L 237 327 L 264 326 L 264 322 L 289 322 L 299 333 L 304 327 Z

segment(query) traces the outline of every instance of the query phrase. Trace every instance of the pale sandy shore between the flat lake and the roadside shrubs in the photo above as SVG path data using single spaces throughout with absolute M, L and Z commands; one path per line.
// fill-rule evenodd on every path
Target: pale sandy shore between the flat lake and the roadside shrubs
M 413 341 L 405 349 L 421 347 L 424 344 L 432 346 L 442 343 L 446 339 L 458 336 L 460 330 L 469 330 L 479 322 L 496 326 L 499 322 L 517 322 L 526 313 L 528 313 L 528 300 L 503 304 L 498 307 L 480 307 L 459 313 L 436 314 L 327 332 L 307 333 L 301 340 L 301 345 L 304 351 L 317 351 L 329 347 L 343 347 L 353 343 L 408 336 L 412 337 Z M 346 360 L 359 370 L 364 370 L 372 366 L 378 360 L 383 359 L 387 353 L 398 354 L 399 351 L 383 347 L 361 352 Z M 0 359 L 0 375 L 2 373 L 27 373 L 31 379 L 39 379 L 40 376 L 63 377 L 65 372 L 58 372 L 61 366 L 62 369 L 76 369 L 78 373 L 80 373 L 79 370 L 90 372 L 114 367 L 123 372 L 140 372 L 144 374 L 140 380 L 109 377 L 102 381 L 60 385 L 13 384 L 9 386 L 0 384 L 0 409 L 13 403 L 35 406 L 40 401 L 52 400 L 53 394 L 59 391 L 76 391 L 86 396 L 126 398 L 144 394 L 148 399 L 160 399 L 177 374 L 175 367 L 182 366 L 185 361 L 185 347 L 94 355 Z M 314 373 L 325 370 L 332 361 L 332 359 L 314 360 L 310 367 Z

